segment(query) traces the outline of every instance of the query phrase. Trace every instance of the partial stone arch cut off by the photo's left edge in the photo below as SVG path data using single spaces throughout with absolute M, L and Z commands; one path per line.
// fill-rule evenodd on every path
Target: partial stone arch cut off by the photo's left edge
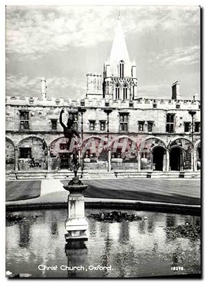
M 10 137 L 5 137 L 5 170 L 15 170 L 16 146 Z

